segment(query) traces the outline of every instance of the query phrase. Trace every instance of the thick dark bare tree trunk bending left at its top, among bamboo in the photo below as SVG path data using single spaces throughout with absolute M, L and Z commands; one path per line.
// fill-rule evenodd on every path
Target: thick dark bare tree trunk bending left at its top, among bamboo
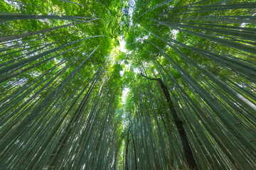
M 142 77 L 146 77 L 142 73 L 141 73 L 141 75 L 142 75 Z M 198 169 L 198 166 L 196 164 L 196 160 L 194 159 L 193 153 L 191 151 L 191 147 L 188 144 L 188 138 L 186 137 L 186 132 L 183 128 L 183 121 L 180 120 L 180 118 L 178 118 L 178 115 L 177 115 L 176 110 L 174 108 L 174 104 L 171 101 L 171 96 L 169 94 L 169 91 L 168 91 L 166 85 L 159 78 L 153 79 L 153 78 L 146 77 L 146 79 L 156 80 L 156 81 L 159 82 L 159 84 L 161 86 L 161 89 L 164 92 L 164 96 L 166 97 L 166 101 L 169 104 L 169 108 L 170 108 L 171 113 L 172 113 L 173 118 L 174 118 L 174 123 L 175 123 L 176 127 L 178 128 L 178 134 L 181 137 L 181 143 L 182 143 L 182 147 L 183 147 L 184 154 L 185 154 L 185 157 L 186 157 L 186 161 L 188 162 L 188 166 L 190 166 L 192 169 Z

